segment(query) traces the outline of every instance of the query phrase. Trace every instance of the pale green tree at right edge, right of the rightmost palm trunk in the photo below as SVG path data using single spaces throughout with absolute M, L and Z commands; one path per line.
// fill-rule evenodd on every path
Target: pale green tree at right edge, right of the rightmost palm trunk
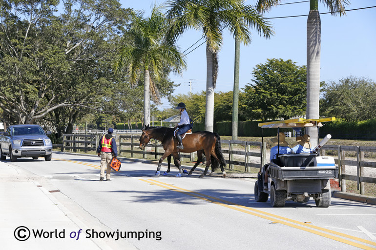
M 346 77 L 326 83 L 322 89 L 320 114 L 346 121 L 376 118 L 376 83 L 365 77 Z

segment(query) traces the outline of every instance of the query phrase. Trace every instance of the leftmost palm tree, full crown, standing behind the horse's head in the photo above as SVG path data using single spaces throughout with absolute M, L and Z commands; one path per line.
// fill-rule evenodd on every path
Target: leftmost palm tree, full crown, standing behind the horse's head
M 154 84 L 160 80 L 166 68 L 181 74 L 186 69 L 186 61 L 178 47 L 167 42 L 168 22 L 161 7 L 154 6 L 149 18 L 144 12 L 131 13 L 131 28 L 125 34 L 120 53 L 114 62 L 114 71 L 125 70 L 132 84 L 144 73 L 144 124 L 150 124 L 150 90 L 159 100 Z

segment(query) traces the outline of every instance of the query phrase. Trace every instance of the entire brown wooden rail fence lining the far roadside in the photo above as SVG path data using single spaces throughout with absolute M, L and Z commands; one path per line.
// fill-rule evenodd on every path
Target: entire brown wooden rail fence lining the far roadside
M 101 135 L 80 135 L 80 134 L 64 134 L 62 151 L 70 150 L 77 152 L 77 150 L 96 151 L 98 140 Z M 142 154 L 146 158 L 147 154 L 154 155 L 155 159 L 163 155 L 164 150 L 161 143 L 157 140 L 152 140 L 146 149 L 140 150 L 139 139 L 140 135 L 119 135 L 119 150 L 120 156 L 125 156 L 125 153 L 130 153 L 130 157 L 135 158 L 135 154 Z M 234 165 L 244 166 L 245 172 L 250 172 L 251 168 L 260 168 L 260 166 L 267 163 L 266 159 L 266 143 L 261 145 L 261 142 L 253 141 L 235 141 L 235 140 L 221 140 L 222 153 L 228 157 L 226 162 L 229 164 L 229 169 L 234 169 Z M 228 149 L 224 149 L 228 147 Z M 242 147 L 242 150 L 239 148 Z M 251 147 L 253 150 L 251 151 Z M 254 149 L 256 147 L 256 149 Z M 161 149 L 162 148 L 162 149 Z M 237 149 L 237 150 L 236 150 Z M 357 189 L 360 194 L 364 194 L 364 183 L 376 183 L 376 178 L 364 176 L 365 168 L 376 168 L 376 162 L 367 161 L 364 157 L 365 152 L 376 153 L 376 147 L 362 147 L 362 146 L 336 146 L 324 145 L 321 149 L 321 155 L 326 155 L 326 151 L 336 151 L 337 159 L 334 159 L 335 164 L 338 165 L 338 179 L 341 191 L 346 192 L 346 180 L 357 182 Z M 261 151 L 263 157 L 261 158 Z M 356 160 L 346 159 L 346 152 L 355 153 Z M 195 153 L 180 154 L 181 160 L 189 158 L 191 161 L 195 160 Z M 244 158 L 244 161 L 239 159 Z M 253 160 L 250 160 L 253 157 Z M 349 157 L 349 156 L 348 156 Z M 353 157 L 354 158 L 354 157 Z M 346 166 L 355 166 L 356 175 L 346 174 Z

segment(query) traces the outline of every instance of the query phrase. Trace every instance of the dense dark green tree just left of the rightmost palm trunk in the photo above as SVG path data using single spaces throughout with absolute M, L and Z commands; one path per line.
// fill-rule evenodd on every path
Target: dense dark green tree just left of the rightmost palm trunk
M 250 119 L 288 119 L 306 111 L 306 66 L 268 59 L 253 69 L 254 84 L 244 88 L 242 104 Z

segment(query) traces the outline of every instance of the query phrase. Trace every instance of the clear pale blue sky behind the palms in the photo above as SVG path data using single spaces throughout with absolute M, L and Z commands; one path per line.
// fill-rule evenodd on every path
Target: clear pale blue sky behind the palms
M 282 3 L 302 0 L 284 0 Z M 376 6 L 376 0 L 350 0 L 347 10 Z M 145 11 L 148 17 L 151 7 L 163 4 L 155 0 L 120 0 L 124 8 Z M 256 0 L 247 0 L 246 4 L 255 5 Z M 278 5 L 264 14 L 266 18 L 308 15 L 309 2 Z M 319 0 L 318 10 L 326 13 L 330 10 Z M 345 77 L 367 77 L 376 80 L 376 8 L 346 12 L 344 16 L 321 14 L 321 72 L 320 81 L 336 81 Z M 269 58 L 291 59 L 298 66 L 307 65 L 306 30 L 307 16 L 294 18 L 269 19 L 275 35 L 270 39 L 260 37 L 256 30 L 251 30 L 252 42 L 240 47 L 239 89 L 242 91 L 252 81 L 252 71 L 257 64 L 265 64 Z M 181 36 L 177 45 L 181 52 L 187 50 L 202 38 L 202 31 L 188 30 Z M 234 47 L 235 42 L 230 32 L 223 32 L 223 44 L 219 52 L 219 69 L 215 92 L 233 90 Z M 204 40 L 187 50 L 187 70 L 183 75 L 171 74 L 170 79 L 180 86 L 174 95 L 201 93 L 206 90 L 206 53 L 205 44 L 194 51 Z M 190 87 L 191 85 L 191 87 Z M 162 99 L 161 109 L 172 107 Z

